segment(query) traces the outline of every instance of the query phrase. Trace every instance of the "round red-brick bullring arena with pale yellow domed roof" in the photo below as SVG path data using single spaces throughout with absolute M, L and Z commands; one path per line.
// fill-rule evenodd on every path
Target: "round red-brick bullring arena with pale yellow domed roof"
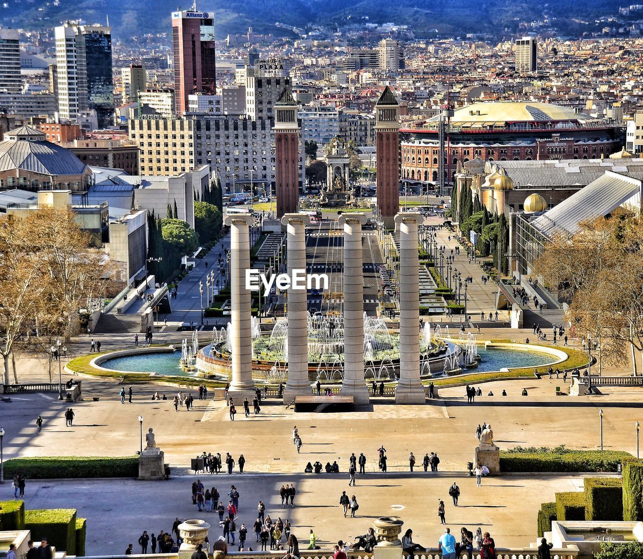
M 401 132 L 406 184 L 438 180 L 439 116 Z M 445 134 L 445 181 L 458 162 L 601 159 L 620 150 L 624 127 L 541 102 L 473 103 L 455 109 Z

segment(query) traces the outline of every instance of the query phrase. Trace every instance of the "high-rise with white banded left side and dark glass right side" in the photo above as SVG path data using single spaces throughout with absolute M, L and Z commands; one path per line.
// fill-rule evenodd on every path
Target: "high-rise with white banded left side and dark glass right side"
M 112 30 L 66 22 L 55 30 L 60 118 L 76 120 L 93 109 L 98 127 L 113 122 Z

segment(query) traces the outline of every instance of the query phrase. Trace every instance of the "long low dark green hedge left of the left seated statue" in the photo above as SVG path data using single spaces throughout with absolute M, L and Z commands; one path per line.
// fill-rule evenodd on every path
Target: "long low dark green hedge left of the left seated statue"
M 5 462 L 6 477 L 19 472 L 30 479 L 138 477 L 138 456 L 43 456 Z

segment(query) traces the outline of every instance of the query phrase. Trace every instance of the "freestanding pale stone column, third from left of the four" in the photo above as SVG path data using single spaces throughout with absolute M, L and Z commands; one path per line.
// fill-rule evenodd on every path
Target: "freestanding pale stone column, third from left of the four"
M 368 404 L 368 387 L 364 380 L 364 278 L 361 226 L 363 213 L 340 217 L 344 229 L 344 380 L 341 394 L 353 396 L 355 404 Z

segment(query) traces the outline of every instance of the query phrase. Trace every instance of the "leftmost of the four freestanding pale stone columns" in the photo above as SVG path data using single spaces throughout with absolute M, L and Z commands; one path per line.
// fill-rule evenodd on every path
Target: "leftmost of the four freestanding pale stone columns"
M 231 326 L 230 351 L 232 354 L 232 382 L 228 398 L 235 405 L 243 404 L 243 398 L 252 401 L 255 382 L 252 380 L 252 297 L 246 289 L 246 270 L 250 267 L 249 226 L 252 215 L 229 215 L 226 225 L 230 226 L 230 290 Z

